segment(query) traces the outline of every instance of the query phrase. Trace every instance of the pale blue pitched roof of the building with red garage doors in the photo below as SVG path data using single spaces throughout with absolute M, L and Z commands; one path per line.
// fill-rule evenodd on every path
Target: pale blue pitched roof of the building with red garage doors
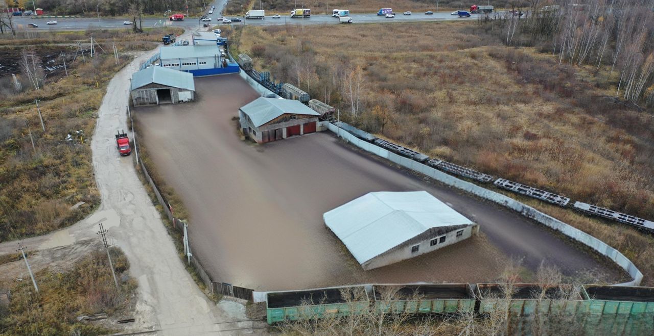
M 266 97 L 255 99 L 249 104 L 241 107 L 239 110 L 243 111 L 243 113 L 250 117 L 254 127 L 260 127 L 268 121 L 287 113 L 320 115 L 318 112 L 311 110 L 311 108 L 302 104 L 298 100 Z

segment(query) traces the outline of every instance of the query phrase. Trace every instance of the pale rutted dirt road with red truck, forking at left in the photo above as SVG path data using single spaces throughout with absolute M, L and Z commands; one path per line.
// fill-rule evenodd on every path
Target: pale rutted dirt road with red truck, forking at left
M 182 36 L 183 37 L 183 36 Z M 156 335 L 234 335 L 252 333 L 243 305 L 230 301 L 219 307 L 199 290 L 182 264 L 162 219 L 150 201 L 132 157 L 120 157 L 117 129 L 127 128 L 129 78 L 154 52 L 144 53 L 120 70 L 107 87 L 91 143 L 101 206 L 93 215 L 52 234 L 24 240 L 27 249 L 52 249 L 97 239 L 97 223 L 109 230 L 110 243 L 128 256 L 138 281 L 136 322 L 131 331 L 157 330 Z M 14 252 L 17 242 L 0 244 L 0 254 Z M 221 309 L 222 308 L 222 309 Z M 230 330 L 224 331 L 222 330 Z

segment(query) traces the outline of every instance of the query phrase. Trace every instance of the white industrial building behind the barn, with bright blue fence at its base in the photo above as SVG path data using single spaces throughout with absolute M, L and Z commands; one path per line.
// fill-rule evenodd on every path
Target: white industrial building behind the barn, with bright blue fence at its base
M 214 37 L 215 40 L 216 37 Z M 222 57 L 220 48 L 215 42 L 192 46 L 162 47 L 160 48 L 160 59 L 161 67 L 190 72 L 196 77 L 239 72 L 239 65 L 228 57 Z

